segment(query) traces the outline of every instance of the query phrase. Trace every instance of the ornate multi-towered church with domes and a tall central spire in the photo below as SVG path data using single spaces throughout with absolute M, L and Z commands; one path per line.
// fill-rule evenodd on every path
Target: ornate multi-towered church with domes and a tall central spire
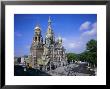
M 49 17 L 44 39 L 39 25 L 34 28 L 29 55 L 29 66 L 32 68 L 48 71 L 67 65 L 66 49 L 62 44 L 62 38 L 59 36 L 58 39 L 55 39 L 51 23 Z

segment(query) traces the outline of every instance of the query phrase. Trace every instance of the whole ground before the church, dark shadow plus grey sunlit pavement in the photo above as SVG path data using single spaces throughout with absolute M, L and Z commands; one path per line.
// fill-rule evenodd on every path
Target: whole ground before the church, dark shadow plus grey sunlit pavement
M 15 76 L 95 76 L 97 70 L 90 70 L 84 63 L 69 64 L 47 72 L 39 69 L 25 68 L 20 65 L 14 66 Z

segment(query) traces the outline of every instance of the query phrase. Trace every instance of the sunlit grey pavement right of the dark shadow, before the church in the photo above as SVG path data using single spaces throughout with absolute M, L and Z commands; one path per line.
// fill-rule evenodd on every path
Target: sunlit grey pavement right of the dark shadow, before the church
M 95 76 L 94 71 L 89 70 L 85 64 L 69 64 L 47 73 L 52 76 Z

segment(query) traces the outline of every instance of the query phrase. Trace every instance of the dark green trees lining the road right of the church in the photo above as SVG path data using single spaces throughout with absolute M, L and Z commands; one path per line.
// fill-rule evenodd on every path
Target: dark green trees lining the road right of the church
M 68 53 L 69 61 L 83 61 L 89 62 L 91 65 L 97 65 L 97 41 L 91 39 L 86 44 L 86 50 L 80 54 Z

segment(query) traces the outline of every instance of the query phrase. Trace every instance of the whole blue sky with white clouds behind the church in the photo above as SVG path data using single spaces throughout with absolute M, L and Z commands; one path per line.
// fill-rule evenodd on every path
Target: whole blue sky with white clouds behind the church
M 81 53 L 89 40 L 97 40 L 96 14 L 15 14 L 15 56 L 29 55 L 37 24 L 41 28 L 43 39 L 45 38 L 49 16 L 55 38 L 62 37 L 66 52 Z

